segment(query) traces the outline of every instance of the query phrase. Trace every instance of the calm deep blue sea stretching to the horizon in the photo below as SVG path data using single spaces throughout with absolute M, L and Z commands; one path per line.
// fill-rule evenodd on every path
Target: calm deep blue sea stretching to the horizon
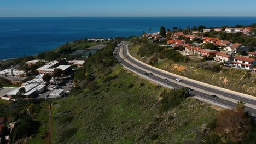
M 0 59 L 34 55 L 68 41 L 139 35 L 160 26 L 219 27 L 256 23 L 256 17 L 38 17 L 0 18 Z

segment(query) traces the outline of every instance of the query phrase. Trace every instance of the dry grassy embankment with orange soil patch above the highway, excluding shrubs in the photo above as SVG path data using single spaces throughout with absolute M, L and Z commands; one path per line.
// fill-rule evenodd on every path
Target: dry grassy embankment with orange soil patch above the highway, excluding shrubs
M 149 58 L 143 58 L 137 55 L 139 47 L 139 45 L 131 47 L 131 55 L 148 63 Z M 256 81 L 256 74 L 252 74 L 249 78 L 244 78 L 245 70 L 238 69 L 223 69 L 220 73 L 214 73 L 210 70 L 196 68 L 198 63 L 199 62 L 195 61 L 190 61 L 188 64 L 173 63 L 168 59 L 164 59 L 164 61 L 161 60 L 154 66 L 178 75 L 189 77 L 190 79 L 256 96 L 256 83 L 253 83 L 253 81 Z

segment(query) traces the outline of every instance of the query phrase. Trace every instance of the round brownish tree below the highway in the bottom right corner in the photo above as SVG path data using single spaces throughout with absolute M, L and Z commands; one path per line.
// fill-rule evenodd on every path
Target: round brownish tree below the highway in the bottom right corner
M 225 109 L 217 116 L 216 132 L 234 143 L 241 142 L 251 129 L 250 118 L 243 111 Z

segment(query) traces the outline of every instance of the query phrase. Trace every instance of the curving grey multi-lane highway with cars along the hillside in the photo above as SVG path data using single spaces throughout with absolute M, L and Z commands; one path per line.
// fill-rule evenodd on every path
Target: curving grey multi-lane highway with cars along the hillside
M 134 73 L 145 77 L 148 80 L 159 83 L 160 85 L 172 88 L 190 87 L 193 89 L 191 94 L 195 94 L 197 98 L 206 101 L 207 103 L 217 104 L 223 107 L 235 108 L 237 101 L 246 103 L 246 111 L 252 115 L 256 115 L 256 99 L 254 97 L 241 96 L 237 93 L 224 91 L 221 88 L 202 85 L 200 82 L 183 80 L 176 81 L 177 76 L 164 73 L 163 71 L 152 68 L 147 64 L 139 62 L 137 59 L 129 56 L 128 43 L 123 43 L 118 46 L 114 53 L 115 57 L 127 69 Z M 145 75 L 144 73 L 153 73 L 153 75 Z M 167 79 L 168 81 L 166 81 Z M 217 95 L 219 98 L 213 98 L 212 95 Z

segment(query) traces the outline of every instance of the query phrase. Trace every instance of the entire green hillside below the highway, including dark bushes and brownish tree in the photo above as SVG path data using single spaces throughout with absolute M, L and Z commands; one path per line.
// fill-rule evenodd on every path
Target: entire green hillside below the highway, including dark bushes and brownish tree
M 115 44 L 88 58 L 71 95 L 54 101 L 53 143 L 254 142 L 254 120 L 242 102 L 216 111 L 187 89 L 154 85 L 115 61 Z

